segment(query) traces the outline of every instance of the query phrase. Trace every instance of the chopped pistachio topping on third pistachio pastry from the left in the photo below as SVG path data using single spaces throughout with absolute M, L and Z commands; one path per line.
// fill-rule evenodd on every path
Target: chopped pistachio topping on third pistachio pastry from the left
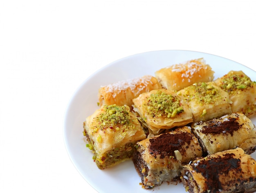
M 195 100 L 200 104 L 213 104 L 221 97 L 218 88 L 205 82 L 194 83 L 185 89 L 186 100 Z

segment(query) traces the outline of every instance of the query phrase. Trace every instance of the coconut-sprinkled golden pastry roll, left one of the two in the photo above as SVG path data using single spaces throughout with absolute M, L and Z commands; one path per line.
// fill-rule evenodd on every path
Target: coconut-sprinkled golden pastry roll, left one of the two
M 151 75 L 108 84 L 99 89 L 99 106 L 116 104 L 118 106 L 127 105 L 131 107 L 133 104 L 132 99 L 137 98 L 141 93 L 155 89 L 162 89 L 162 86 Z

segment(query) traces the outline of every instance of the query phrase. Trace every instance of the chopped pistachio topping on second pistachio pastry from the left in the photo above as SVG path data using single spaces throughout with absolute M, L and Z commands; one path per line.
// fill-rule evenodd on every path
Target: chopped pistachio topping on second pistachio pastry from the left
M 173 118 L 183 110 L 180 99 L 162 91 L 152 93 L 145 104 L 150 116 Z

